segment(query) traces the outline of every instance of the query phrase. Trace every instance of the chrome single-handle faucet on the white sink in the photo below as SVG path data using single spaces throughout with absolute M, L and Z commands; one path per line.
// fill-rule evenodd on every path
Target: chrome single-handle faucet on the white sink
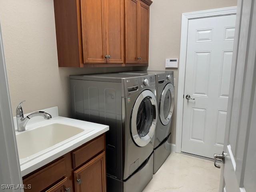
M 17 119 L 17 128 L 18 131 L 24 131 L 26 130 L 26 124 L 28 120 L 30 120 L 32 117 L 36 116 L 42 116 L 44 119 L 49 120 L 52 118 L 52 116 L 44 111 L 37 111 L 34 113 L 29 114 L 26 118 L 24 118 L 23 110 L 22 110 L 22 103 L 25 101 L 20 102 L 16 108 L 16 119 Z

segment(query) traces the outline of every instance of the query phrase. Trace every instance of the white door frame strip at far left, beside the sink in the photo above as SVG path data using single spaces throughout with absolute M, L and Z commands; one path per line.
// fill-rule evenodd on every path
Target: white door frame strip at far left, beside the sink
M 0 23 L 0 185 L 22 184 Z M 0 186 L 1 188 L 2 186 Z M 23 192 L 23 189 L 10 189 Z

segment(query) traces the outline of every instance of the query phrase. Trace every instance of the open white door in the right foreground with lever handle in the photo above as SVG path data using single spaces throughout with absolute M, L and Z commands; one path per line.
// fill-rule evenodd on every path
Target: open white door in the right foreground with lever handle
M 238 0 L 220 192 L 256 191 L 256 2 Z

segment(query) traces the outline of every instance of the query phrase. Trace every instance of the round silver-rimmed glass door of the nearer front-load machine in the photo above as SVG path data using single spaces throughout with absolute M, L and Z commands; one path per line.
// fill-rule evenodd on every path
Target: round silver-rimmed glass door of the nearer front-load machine
M 154 136 L 157 122 L 156 103 L 155 95 L 150 90 L 144 90 L 133 106 L 131 134 L 138 146 L 146 146 Z

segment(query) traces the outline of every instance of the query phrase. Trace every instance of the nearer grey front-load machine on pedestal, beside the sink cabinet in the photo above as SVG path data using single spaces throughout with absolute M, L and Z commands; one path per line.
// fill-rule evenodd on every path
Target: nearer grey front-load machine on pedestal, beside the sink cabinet
M 108 192 L 141 192 L 153 176 L 158 122 L 154 74 L 70 76 L 72 117 L 109 125 Z

